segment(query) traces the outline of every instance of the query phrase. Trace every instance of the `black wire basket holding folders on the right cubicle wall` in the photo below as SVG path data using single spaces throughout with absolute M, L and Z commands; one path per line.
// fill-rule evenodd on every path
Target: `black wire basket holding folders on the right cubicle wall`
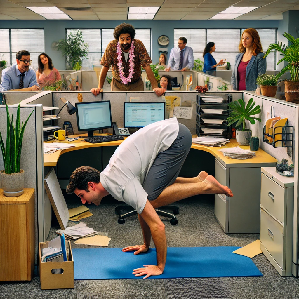
M 275 132 L 276 129 L 282 128 L 282 133 L 277 133 Z M 281 126 L 281 127 L 276 127 L 273 129 L 273 134 L 269 135 L 266 133 L 266 126 L 264 126 L 263 129 L 263 142 L 266 142 L 268 144 L 271 144 L 274 148 L 275 147 L 293 147 L 293 142 L 294 142 L 294 127 L 293 126 Z M 281 136 L 279 136 L 281 135 Z M 266 137 L 271 137 L 273 139 L 272 142 L 269 142 L 268 138 Z M 275 136 L 279 137 L 279 140 L 274 141 Z M 278 142 L 281 142 L 281 146 L 277 145 Z

